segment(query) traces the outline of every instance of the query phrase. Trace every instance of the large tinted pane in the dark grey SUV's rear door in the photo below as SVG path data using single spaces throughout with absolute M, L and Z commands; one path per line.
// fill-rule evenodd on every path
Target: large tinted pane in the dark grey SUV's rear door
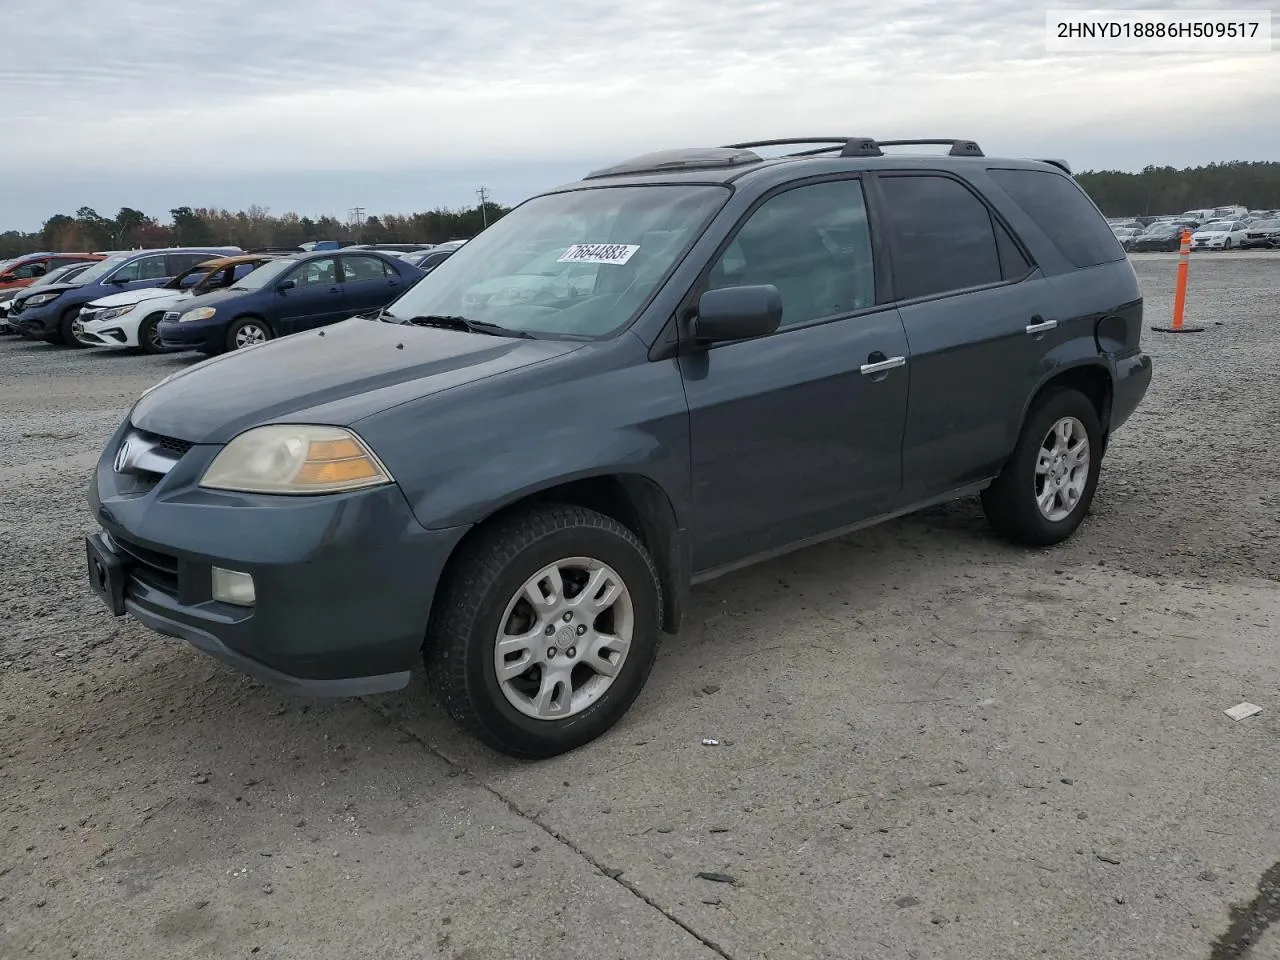
M 879 188 L 899 298 L 934 297 L 1006 279 L 991 212 L 968 188 L 947 177 L 882 177 Z

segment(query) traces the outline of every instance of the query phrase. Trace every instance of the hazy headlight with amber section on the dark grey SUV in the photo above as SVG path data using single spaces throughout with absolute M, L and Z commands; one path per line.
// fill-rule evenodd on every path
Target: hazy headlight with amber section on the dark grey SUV
M 271 424 L 246 430 L 205 470 L 200 485 L 241 493 L 339 493 L 392 483 L 351 430 Z

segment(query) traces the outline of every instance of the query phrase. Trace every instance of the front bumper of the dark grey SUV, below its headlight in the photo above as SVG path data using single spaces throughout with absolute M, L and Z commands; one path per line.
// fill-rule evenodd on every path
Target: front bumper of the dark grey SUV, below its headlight
M 424 529 L 397 486 L 332 497 L 204 490 L 197 481 L 219 445 L 191 445 L 161 476 L 118 474 L 128 431 L 108 444 L 90 503 L 105 532 L 97 547 L 123 568 L 129 614 L 300 692 L 358 696 L 408 682 L 466 527 Z M 212 599 L 214 566 L 252 575 L 255 604 Z

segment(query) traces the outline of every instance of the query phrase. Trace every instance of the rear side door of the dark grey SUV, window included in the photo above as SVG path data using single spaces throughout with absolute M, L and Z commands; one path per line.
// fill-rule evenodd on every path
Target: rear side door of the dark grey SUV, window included
M 1042 271 L 964 180 L 882 173 L 876 189 L 911 355 L 905 507 L 998 472 L 1062 334 Z

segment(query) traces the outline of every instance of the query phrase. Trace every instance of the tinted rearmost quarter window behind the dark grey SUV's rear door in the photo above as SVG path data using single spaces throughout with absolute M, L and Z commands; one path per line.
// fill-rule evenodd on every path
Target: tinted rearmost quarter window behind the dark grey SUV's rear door
M 1046 170 L 988 170 L 1074 266 L 1124 260 L 1124 247 L 1080 186 Z

